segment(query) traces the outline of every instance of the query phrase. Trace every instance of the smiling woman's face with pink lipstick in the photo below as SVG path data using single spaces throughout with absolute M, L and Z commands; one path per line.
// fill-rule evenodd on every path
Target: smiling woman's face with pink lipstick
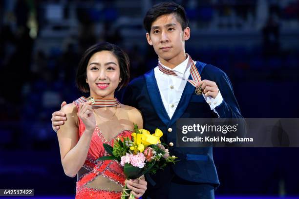
M 93 54 L 87 64 L 86 76 L 91 97 L 114 98 L 114 91 L 120 82 L 120 67 L 117 58 L 110 51 Z

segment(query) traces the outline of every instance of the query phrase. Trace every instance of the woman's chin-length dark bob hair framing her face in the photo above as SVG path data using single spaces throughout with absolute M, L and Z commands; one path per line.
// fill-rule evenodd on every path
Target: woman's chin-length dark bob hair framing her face
M 79 67 L 76 74 L 76 84 L 80 91 L 84 93 L 89 92 L 89 86 L 88 83 L 86 83 L 87 64 L 93 54 L 103 50 L 110 51 L 115 55 L 115 57 L 118 60 L 119 68 L 120 68 L 120 78 L 121 78 L 121 82 L 119 83 L 118 86 L 119 89 L 126 86 L 130 81 L 130 71 L 129 71 L 130 62 L 127 53 L 125 53 L 125 51 L 123 51 L 120 47 L 112 43 L 108 43 L 108 42 L 97 43 L 93 46 L 90 46 L 85 51 L 82 59 L 79 62 Z

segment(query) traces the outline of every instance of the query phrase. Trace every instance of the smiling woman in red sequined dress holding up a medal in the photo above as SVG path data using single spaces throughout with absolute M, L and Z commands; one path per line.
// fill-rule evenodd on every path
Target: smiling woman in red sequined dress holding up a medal
M 115 89 L 129 82 L 127 54 L 110 43 L 91 46 L 79 63 L 76 82 L 94 103 L 81 97 L 62 107 L 67 120 L 57 136 L 64 173 L 77 175 L 77 199 L 119 199 L 126 179 L 122 166 L 116 160 L 96 159 L 107 155 L 103 143 L 113 145 L 117 137 L 130 136 L 133 123 L 143 127 L 140 112 L 114 98 Z M 144 179 L 126 182 L 137 198 L 147 189 Z

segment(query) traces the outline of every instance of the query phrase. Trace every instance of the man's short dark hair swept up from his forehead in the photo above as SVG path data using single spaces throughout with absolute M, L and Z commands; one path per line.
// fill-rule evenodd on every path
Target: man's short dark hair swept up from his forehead
M 162 2 L 152 6 L 143 19 L 143 26 L 146 31 L 150 33 L 152 22 L 162 15 L 169 15 L 172 13 L 175 15 L 176 20 L 180 22 L 182 30 L 185 30 L 185 28 L 188 27 L 186 11 L 183 6 L 174 2 Z

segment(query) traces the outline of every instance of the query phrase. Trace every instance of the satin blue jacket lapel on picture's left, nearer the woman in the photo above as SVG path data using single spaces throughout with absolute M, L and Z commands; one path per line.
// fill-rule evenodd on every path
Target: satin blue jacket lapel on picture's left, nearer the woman
M 170 121 L 170 118 L 163 105 L 157 81 L 155 79 L 154 70 L 149 71 L 148 73 L 144 74 L 144 76 L 148 88 L 149 99 L 159 118 L 167 125 Z

